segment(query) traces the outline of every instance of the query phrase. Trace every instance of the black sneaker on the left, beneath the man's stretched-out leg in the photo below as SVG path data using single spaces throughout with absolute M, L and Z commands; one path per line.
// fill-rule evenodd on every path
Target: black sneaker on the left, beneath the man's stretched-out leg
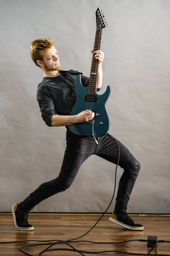
M 19 206 L 20 203 L 12 206 L 12 215 L 14 218 L 15 227 L 22 231 L 34 230 L 34 227 L 28 223 L 28 214 L 21 212 Z

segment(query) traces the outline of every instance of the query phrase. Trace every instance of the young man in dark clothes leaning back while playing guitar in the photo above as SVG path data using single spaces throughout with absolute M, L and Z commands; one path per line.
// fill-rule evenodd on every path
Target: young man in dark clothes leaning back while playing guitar
M 93 52 L 93 50 L 91 52 L 99 60 L 96 86 L 97 90 L 100 90 L 104 53 L 101 51 Z M 61 70 L 54 42 L 50 38 L 40 38 L 31 42 L 31 58 L 44 73 L 44 78 L 37 89 L 37 101 L 42 119 L 48 126 L 65 126 L 67 128 L 67 145 L 58 177 L 42 183 L 24 201 L 12 206 L 15 227 L 25 231 L 34 229 L 31 224 L 28 224 L 28 213 L 31 209 L 46 198 L 68 189 L 80 166 L 88 157 L 96 154 L 116 164 L 119 156 L 116 142 L 108 134 L 96 137 L 97 145 L 94 137 L 82 137 L 71 133 L 69 130 L 68 125 L 87 122 L 94 118 L 94 113 L 91 110 L 85 110 L 75 116 L 70 116 L 77 101 L 74 82 L 78 72 Z M 88 86 L 89 78 L 82 75 L 81 79 L 82 85 Z M 122 143 L 116 141 L 120 147 L 119 166 L 124 169 L 124 172 L 119 181 L 115 209 L 109 220 L 130 230 L 143 230 L 144 227 L 141 224 L 135 224 L 126 213 L 127 203 L 139 174 L 140 164 Z

